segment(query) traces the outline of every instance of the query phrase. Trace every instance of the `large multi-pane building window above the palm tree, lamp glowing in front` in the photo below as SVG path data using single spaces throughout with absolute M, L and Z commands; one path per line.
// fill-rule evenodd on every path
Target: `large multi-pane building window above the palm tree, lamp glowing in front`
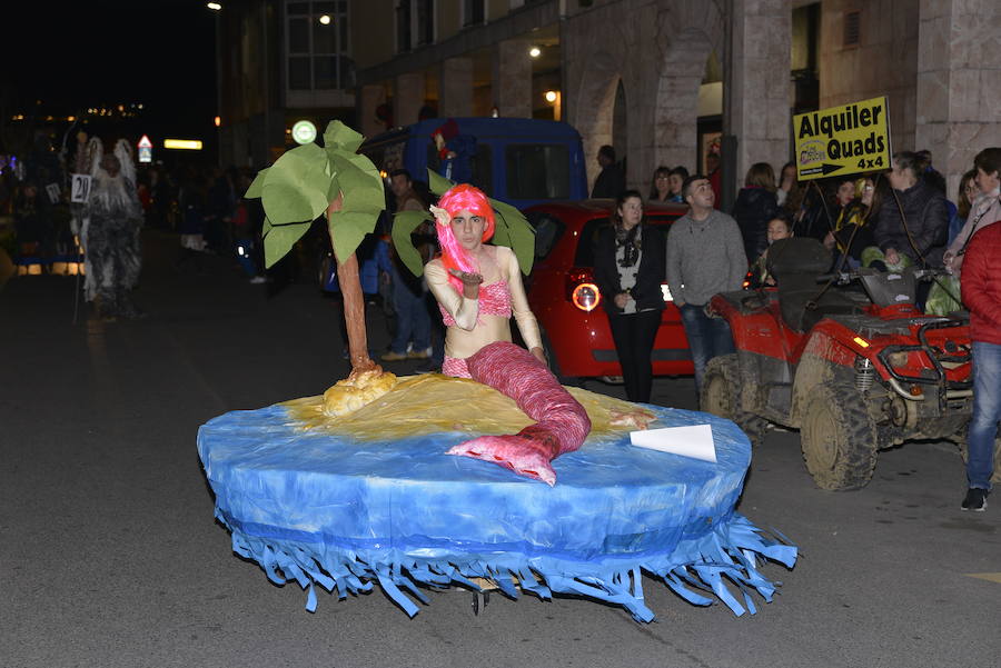
M 285 13 L 289 90 L 353 88 L 347 0 L 288 1 Z

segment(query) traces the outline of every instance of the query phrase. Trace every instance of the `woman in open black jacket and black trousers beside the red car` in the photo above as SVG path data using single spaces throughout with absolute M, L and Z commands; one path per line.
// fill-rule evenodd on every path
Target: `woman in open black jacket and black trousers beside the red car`
M 594 280 L 602 292 L 626 397 L 646 403 L 653 385 L 654 339 L 661 326 L 667 247 L 661 230 L 643 223 L 643 200 L 626 190 L 615 201 L 612 225 L 594 243 Z

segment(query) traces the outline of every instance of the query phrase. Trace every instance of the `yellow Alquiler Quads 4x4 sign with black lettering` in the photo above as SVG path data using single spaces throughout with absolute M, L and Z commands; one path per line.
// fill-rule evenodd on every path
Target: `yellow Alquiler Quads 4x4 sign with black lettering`
M 886 98 L 797 113 L 793 136 L 801 181 L 890 168 Z

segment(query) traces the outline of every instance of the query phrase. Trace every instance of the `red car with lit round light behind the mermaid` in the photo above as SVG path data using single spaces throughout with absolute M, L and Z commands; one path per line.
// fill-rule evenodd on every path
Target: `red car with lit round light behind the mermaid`
M 607 199 L 554 202 L 525 209 L 535 228 L 535 266 L 526 281 L 528 303 L 543 330 L 543 343 L 556 376 L 617 378 L 622 376 L 608 317 L 592 272 L 592 241 L 611 225 L 614 202 Z M 684 205 L 644 205 L 644 225 L 664 230 L 687 211 Z M 681 312 L 663 285 L 667 308 L 654 341 L 655 376 L 694 373 Z

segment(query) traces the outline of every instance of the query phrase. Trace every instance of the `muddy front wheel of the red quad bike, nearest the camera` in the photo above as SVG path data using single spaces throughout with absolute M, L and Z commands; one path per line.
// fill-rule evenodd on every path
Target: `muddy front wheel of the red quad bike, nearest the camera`
M 859 489 L 872 479 L 876 429 L 853 387 L 822 382 L 811 390 L 800 442 L 806 470 L 821 489 Z

